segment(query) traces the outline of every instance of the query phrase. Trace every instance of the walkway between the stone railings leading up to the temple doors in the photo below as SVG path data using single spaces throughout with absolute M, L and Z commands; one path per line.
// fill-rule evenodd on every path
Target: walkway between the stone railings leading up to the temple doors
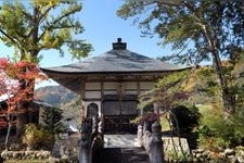
M 104 135 L 104 149 L 93 156 L 93 163 L 149 163 L 149 155 L 137 143 L 137 135 Z

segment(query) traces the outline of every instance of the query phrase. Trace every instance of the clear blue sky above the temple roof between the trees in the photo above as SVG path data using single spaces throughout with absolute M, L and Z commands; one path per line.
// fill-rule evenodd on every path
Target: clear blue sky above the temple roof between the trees
M 124 0 L 84 0 L 82 11 L 79 13 L 85 33 L 80 35 L 82 39 L 90 42 L 94 51 L 92 55 L 102 54 L 112 49 L 112 42 L 118 37 L 127 42 L 128 49 L 150 58 L 162 57 L 172 53 L 170 48 L 162 48 L 157 46 L 157 36 L 154 38 L 141 37 L 140 29 L 132 25 L 132 20 L 121 20 L 116 15 L 116 10 L 124 3 Z M 13 50 L 0 45 L 0 57 L 11 55 Z M 40 52 L 43 59 L 40 66 L 50 67 L 70 64 L 78 62 L 72 60 L 70 54 L 66 51 L 65 57 L 61 58 L 57 51 Z M 51 83 L 52 84 L 52 83 Z

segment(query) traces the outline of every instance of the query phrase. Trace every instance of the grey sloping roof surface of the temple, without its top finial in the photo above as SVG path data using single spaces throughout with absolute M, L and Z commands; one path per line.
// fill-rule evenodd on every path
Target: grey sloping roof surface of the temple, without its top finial
M 154 60 L 130 50 L 111 50 L 99 57 L 93 57 L 75 64 L 42 68 L 43 72 L 62 73 L 136 73 L 167 72 L 184 68 Z

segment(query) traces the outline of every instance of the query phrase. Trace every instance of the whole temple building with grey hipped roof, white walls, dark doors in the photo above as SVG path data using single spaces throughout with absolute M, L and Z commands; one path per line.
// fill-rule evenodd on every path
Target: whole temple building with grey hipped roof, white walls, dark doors
M 137 109 L 139 96 L 154 88 L 164 75 L 184 68 L 132 52 L 118 38 L 113 49 L 101 55 L 41 70 L 60 85 L 79 93 L 84 116 L 98 114 L 104 121 L 106 133 L 133 129 L 129 122 L 142 113 Z

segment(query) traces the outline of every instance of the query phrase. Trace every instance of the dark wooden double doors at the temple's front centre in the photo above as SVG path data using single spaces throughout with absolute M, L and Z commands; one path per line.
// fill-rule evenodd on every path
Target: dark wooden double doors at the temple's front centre
M 137 96 L 105 96 L 104 109 L 104 131 L 115 133 L 137 133 L 137 124 L 131 123 L 138 116 Z

